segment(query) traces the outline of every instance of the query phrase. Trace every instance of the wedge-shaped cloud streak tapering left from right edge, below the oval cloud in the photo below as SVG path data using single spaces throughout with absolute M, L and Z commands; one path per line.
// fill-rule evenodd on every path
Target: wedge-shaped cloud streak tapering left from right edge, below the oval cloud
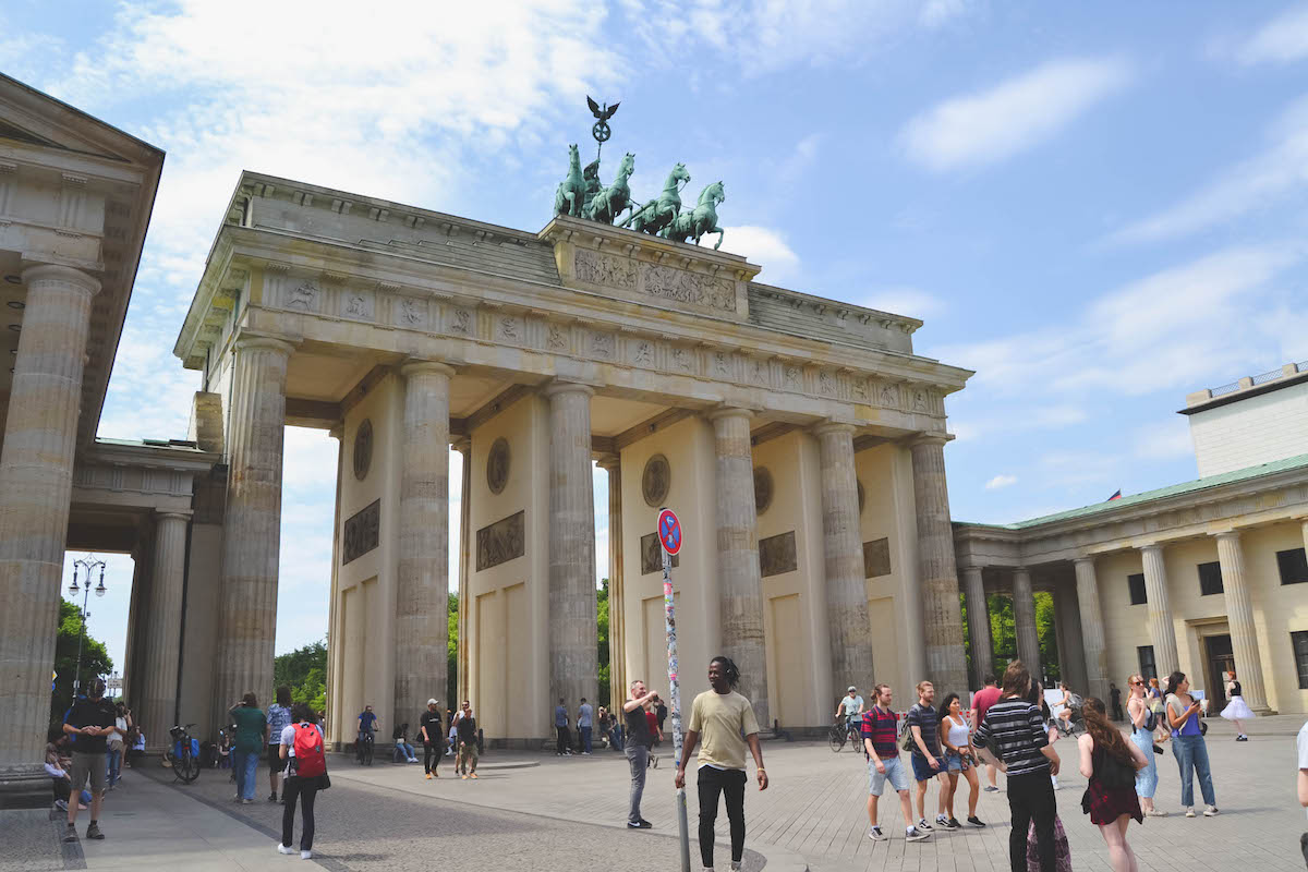
M 1308 187 L 1308 97 L 1281 115 L 1269 139 L 1271 144 L 1262 153 L 1222 173 L 1176 205 L 1118 230 L 1109 242 L 1182 237 L 1267 208 L 1296 191 L 1301 193 Z

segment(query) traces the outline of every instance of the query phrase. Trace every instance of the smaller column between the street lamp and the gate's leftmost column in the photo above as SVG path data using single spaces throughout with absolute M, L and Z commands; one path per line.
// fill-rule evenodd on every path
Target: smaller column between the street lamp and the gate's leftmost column
M 154 565 L 149 609 L 144 616 L 145 663 L 137 669 L 132 711 L 141 718 L 149 746 L 164 748 L 177 723 L 177 667 L 182 642 L 182 582 L 186 577 L 186 527 L 191 512 L 161 512 L 154 524 Z

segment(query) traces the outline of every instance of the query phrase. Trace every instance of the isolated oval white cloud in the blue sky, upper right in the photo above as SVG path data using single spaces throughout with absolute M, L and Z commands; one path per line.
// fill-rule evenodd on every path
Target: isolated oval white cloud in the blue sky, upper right
M 900 140 L 912 161 L 938 173 L 993 163 L 1050 139 L 1130 78 L 1120 58 L 1046 63 L 939 103 L 912 119 Z

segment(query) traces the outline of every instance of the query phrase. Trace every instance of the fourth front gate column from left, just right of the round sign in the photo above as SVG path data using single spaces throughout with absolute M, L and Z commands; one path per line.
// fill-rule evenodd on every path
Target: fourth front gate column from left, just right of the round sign
M 713 422 L 718 603 L 722 652 L 740 667 L 738 688 L 753 703 L 763 729 L 772 727 L 763 633 L 763 574 L 753 499 L 753 450 L 748 409 L 715 409 Z M 866 607 L 865 607 L 866 608 Z M 706 665 L 706 664 L 705 664 Z M 692 665 L 693 668 L 693 665 Z M 683 669 L 684 672 L 685 669 Z

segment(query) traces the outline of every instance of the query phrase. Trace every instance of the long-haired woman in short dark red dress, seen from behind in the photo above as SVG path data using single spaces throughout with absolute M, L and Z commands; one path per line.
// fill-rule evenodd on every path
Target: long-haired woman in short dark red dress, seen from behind
M 1143 752 L 1122 739 L 1122 733 L 1108 720 L 1104 701 L 1097 697 L 1087 698 L 1080 714 L 1086 720 L 1086 732 L 1076 740 L 1079 769 L 1090 779 L 1080 808 L 1104 837 L 1113 872 L 1137 872 L 1139 867 L 1135 852 L 1126 842 L 1126 828 L 1131 818 L 1144 822 L 1135 796 L 1135 773 L 1148 765 L 1152 748 Z

